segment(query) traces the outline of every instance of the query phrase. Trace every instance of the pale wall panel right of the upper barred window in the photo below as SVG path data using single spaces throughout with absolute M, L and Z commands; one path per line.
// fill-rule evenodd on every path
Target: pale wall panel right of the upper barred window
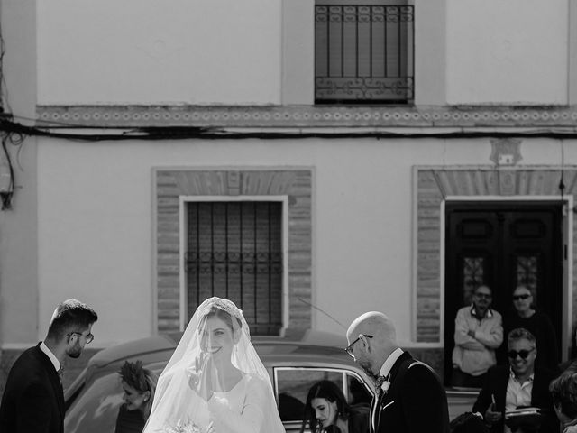
M 566 104 L 569 0 L 446 0 L 449 104 Z

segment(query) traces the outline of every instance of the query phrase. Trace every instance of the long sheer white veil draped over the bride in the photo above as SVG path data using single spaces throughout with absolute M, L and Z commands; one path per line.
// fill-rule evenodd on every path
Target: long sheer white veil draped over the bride
M 223 314 L 227 313 L 227 314 Z M 215 331 L 210 327 L 208 318 L 215 314 L 224 320 L 227 327 L 232 328 L 233 341 L 224 344 L 215 342 Z M 221 322 L 218 322 L 221 323 Z M 224 333 L 222 333 L 224 334 Z M 212 340 L 211 340 L 212 339 Z M 230 341 L 230 337 L 229 337 Z M 217 347 L 215 349 L 215 347 Z M 211 354 L 211 351 L 222 353 Z M 215 423 L 215 413 L 209 408 L 206 390 L 212 395 L 224 395 L 230 392 L 226 385 L 219 381 L 214 368 L 207 367 L 217 356 L 226 356 L 230 351 L 232 365 L 242 372 L 244 378 L 252 378 L 252 383 L 260 385 L 259 392 L 263 396 L 259 405 L 263 418 L 259 415 L 258 424 L 250 428 L 242 422 L 232 423 L 223 427 Z M 229 370 L 234 370 L 229 369 Z M 207 373 L 208 372 L 208 373 Z M 211 373 L 212 372 L 212 373 Z M 238 373 L 235 371 L 235 373 Z M 210 377 L 208 377 L 210 376 Z M 209 385 L 206 380 L 209 379 Z M 204 398 L 203 398 L 204 395 Z M 238 411 L 238 410 L 237 410 Z M 248 410 L 247 410 L 248 411 Z M 223 418 L 223 413 L 217 414 Z M 248 415 L 247 415 L 248 416 Z M 225 417 L 228 418 L 228 417 Z M 234 425 L 233 425 L 234 424 Z M 215 426 L 220 426 L 215 428 Z M 181 428 L 179 430 L 178 428 Z M 284 432 L 279 419 L 270 377 L 251 343 L 249 327 L 243 317 L 243 312 L 234 302 L 228 299 L 206 299 L 198 308 L 188 323 L 179 345 L 160 374 L 152 402 L 151 415 L 143 433 L 171 433 L 172 431 L 190 431 L 191 433 L 259 433 Z

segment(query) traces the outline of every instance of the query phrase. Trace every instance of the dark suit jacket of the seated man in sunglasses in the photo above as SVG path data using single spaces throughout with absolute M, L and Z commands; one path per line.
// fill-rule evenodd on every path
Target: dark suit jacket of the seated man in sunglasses
M 485 416 L 485 412 L 491 404 L 491 394 L 495 398 L 496 410 L 505 413 L 505 399 L 507 397 L 507 384 L 510 374 L 508 365 L 498 365 L 491 367 L 487 373 L 485 384 L 477 397 L 477 401 L 472 406 L 473 412 L 480 412 Z M 553 400 L 549 393 L 549 382 L 555 374 L 549 370 L 536 368 L 533 380 L 533 390 L 531 392 L 531 406 L 541 408 L 545 415 L 545 420 L 539 429 L 540 433 L 558 433 L 559 423 L 553 410 Z M 491 427 L 491 431 L 502 432 L 504 417 Z

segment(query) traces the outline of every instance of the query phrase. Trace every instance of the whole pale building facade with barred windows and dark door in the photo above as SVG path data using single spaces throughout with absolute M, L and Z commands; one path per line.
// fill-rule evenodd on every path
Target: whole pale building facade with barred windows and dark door
M 61 299 L 97 350 L 215 294 L 253 333 L 382 310 L 441 372 L 481 282 L 571 356 L 571 0 L 0 5 L 4 365 Z

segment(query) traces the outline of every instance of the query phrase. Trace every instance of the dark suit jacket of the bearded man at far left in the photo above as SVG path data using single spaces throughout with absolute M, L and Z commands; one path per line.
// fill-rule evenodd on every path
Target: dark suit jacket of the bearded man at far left
M 0 432 L 62 433 L 64 395 L 58 373 L 40 343 L 14 363 L 0 404 Z

